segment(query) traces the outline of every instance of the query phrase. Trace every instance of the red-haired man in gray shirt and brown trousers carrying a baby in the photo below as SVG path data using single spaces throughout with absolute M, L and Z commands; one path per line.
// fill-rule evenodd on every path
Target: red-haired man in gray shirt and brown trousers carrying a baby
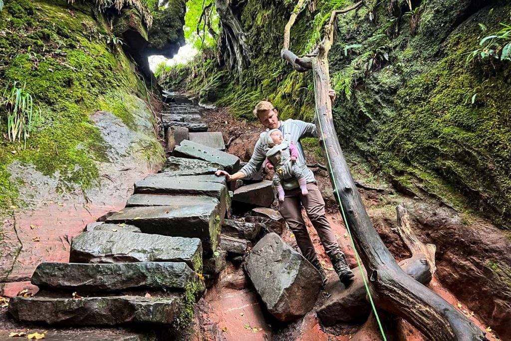
M 333 90 L 330 90 L 330 96 L 333 101 L 335 98 Z M 330 227 L 330 223 L 328 222 L 324 209 L 324 200 L 316 185 L 314 174 L 307 168 L 304 151 L 299 142 L 300 139 L 304 137 L 317 137 L 316 126 L 313 123 L 292 119 L 279 121 L 278 111 L 270 102 L 267 101 L 259 102 L 255 106 L 253 112 L 255 117 L 257 117 L 267 128 L 267 131 L 271 129 L 281 130 L 283 135 L 289 136 L 290 141 L 292 141 L 298 149 L 298 159 L 296 163 L 303 170 L 304 177 L 307 180 L 307 190 L 309 193 L 305 196 L 301 195 L 299 188 L 286 190 L 284 201 L 280 202 L 278 211 L 280 211 L 293 231 L 301 253 L 318 269 L 323 279 L 323 284 L 325 284 L 327 278 L 319 260 L 317 259 L 316 251 L 312 244 L 311 237 L 307 232 L 304 218 L 301 216 L 300 203 L 304 206 L 307 216 L 314 225 L 314 228 L 321 239 L 321 243 L 323 244 L 327 255 L 332 261 L 332 265 L 334 266 L 340 281 L 345 285 L 349 284 L 354 277 L 354 274 L 347 265 L 346 257 L 341 252 L 332 228 Z M 266 159 L 266 147 L 264 139 L 260 139 L 255 144 L 250 161 L 240 171 L 230 175 L 225 171 L 219 170 L 216 174 L 218 176 L 225 175 L 227 181 L 235 181 L 253 175 L 261 168 Z

